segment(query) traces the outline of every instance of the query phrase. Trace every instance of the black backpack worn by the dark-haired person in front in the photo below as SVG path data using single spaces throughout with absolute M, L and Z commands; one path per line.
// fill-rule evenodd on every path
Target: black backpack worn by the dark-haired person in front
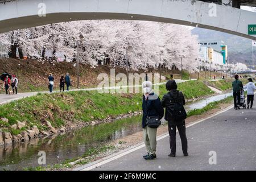
M 183 119 L 187 118 L 187 113 L 184 109 L 183 104 L 181 104 L 178 101 L 180 92 L 176 94 L 176 97 L 173 96 L 173 94 L 170 94 L 172 98 L 174 98 L 174 104 L 168 109 L 170 110 L 170 113 L 172 115 L 172 118 L 174 118 L 174 121 L 183 121 Z

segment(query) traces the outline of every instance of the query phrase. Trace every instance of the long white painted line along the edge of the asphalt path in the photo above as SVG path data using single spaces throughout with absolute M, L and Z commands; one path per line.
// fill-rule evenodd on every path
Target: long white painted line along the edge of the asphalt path
M 210 115 L 207 118 L 201 119 L 201 120 L 199 120 L 197 122 L 193 122 L 191 124 L 188 124 L 186 127 L 191 127 L 193 125 L 196 125 L 197 123 L 200 123 L 200 122 L 203 122 L 203 121 L 205 121 L 207 119 L 210 119 L 210 118 L 212 118 L 212 117 L 214 117 L 214 116 L 216 116 L 218 114 L 224 113 L 225 111 L 227 111 L 229 109 L 232 109 L 232 107 L 233 107 L 233 105 L 230 105 L 230 106 L 226 107 L 226 109 L 218 111 L 217 113 L 215 113 L 213 115 Z M 161 139 L 164 139 L 166 137 L 169 137 L 168 133 L 160 135 L 159 137 L 156 138 L 156 140 L 161 140 Z M 130 154 L 131 152 L 139 150 L 140 148 L 143 148 L 143 147 L 145 147 L 145 144 L 143 144 L 143 143 L 137 144 L 136 146 L 134 146 L 131 149 L 128 149 L 128 150 L 126 149 L 126 150 L 120 151 L 117 154 L 113 154 L 113 155 L 110 155 L 110 156 L 108 156 L 106 158 L 102 158 L 100 160 L 97 160 L 96 162 L 93 162 L 93 163 L 90 163 L 90 164 L 86 164 L 85 166 L 82 166 L 80 168 L 76 168 L 75 170 L 76 171 L 90 171 L 91 169 L 94 169 L 94 168 L 102 166 L 102 165 L 104 165 L 106 163 L 112 162 L 115 159 L 121 158 L 122 156 Z

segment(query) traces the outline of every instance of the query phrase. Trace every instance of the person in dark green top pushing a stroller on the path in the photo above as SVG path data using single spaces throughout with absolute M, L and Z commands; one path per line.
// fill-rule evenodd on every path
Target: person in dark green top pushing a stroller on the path
M 234 78 L 236 80 L 234 80 L 232 82 L 232 88 L 233 88 L 233 97 L 234 97 L 234 109 L 240 109 L 240 92 L 241 89 L 243 88 L 243 84 L 242 81 L 238 80 L 239 76 L 235 75 Z

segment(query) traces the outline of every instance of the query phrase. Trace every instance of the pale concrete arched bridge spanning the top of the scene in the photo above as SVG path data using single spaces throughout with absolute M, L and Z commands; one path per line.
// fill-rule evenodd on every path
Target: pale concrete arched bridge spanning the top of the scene
M 3 3 L 5 2 L 5 3 Z M 40 4 L 41 3 L 41 4 Z M 43 6 L 40 6 L 42 5 Z M 38 13 L 46 7 L 46 16 Z M 0 0 L 0 33 L 86 19 L 150 20 L 243 36 L 256 13 L 195 0 Z

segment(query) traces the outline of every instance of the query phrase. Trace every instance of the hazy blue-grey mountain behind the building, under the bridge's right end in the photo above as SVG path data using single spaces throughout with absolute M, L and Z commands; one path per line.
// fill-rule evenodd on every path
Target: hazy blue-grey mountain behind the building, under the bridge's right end
M 221 41 L 228 45 L 228 56 L 230 63 L 245 63 L 252 65 L 252 49 L 251 39 L 242 38 L 241 36 L 226 34 L 224 32 L 208 30 L 205 28 L 193 28 L 193 35 L 199 36 L 200 43 L 215 43 L 217 45 L 209 45 L 210 47 L 220 50 Z M 254 47 L 254 61 L 256 63 L 256 47 Z

